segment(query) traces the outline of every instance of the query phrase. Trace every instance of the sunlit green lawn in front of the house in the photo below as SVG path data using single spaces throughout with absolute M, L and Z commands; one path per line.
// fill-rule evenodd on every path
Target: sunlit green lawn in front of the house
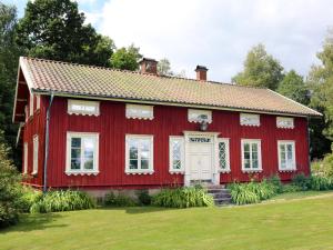
M 301 194 L 243 207 L 24 216 L 0 231 L 0 249 L 333 249 L 333 192 Z

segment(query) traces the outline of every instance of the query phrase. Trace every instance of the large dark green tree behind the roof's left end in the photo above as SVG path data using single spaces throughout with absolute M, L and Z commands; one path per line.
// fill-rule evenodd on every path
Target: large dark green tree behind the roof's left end
M 113 41 L 84 24 L 84 19 L 71 0 L 29 1 L 17 42 L 30 57 L 108 66 Z

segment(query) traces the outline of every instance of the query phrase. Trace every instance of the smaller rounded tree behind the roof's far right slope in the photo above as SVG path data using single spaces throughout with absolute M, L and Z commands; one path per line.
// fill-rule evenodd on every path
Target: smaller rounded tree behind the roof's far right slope
M 289 71 L 280 82 L 278 92 L 302 104 L 309 104 L 309 90 L 303 77 L 294 70 Z

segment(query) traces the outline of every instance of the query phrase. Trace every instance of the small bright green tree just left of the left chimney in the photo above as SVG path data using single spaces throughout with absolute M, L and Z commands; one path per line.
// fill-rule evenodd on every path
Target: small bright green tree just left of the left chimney
M 142 58 L 140 49 L 131 44 L 129 48 L 118 49 L 110 59 L 110 64 L 114 69 L 138 70 L 139 60 Z

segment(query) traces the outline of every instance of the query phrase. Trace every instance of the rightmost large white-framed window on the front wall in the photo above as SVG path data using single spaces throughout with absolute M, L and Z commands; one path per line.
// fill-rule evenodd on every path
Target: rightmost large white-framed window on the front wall
M 278 141 L 279 147 L 279 170 L 296 170 L 295 142 Z

